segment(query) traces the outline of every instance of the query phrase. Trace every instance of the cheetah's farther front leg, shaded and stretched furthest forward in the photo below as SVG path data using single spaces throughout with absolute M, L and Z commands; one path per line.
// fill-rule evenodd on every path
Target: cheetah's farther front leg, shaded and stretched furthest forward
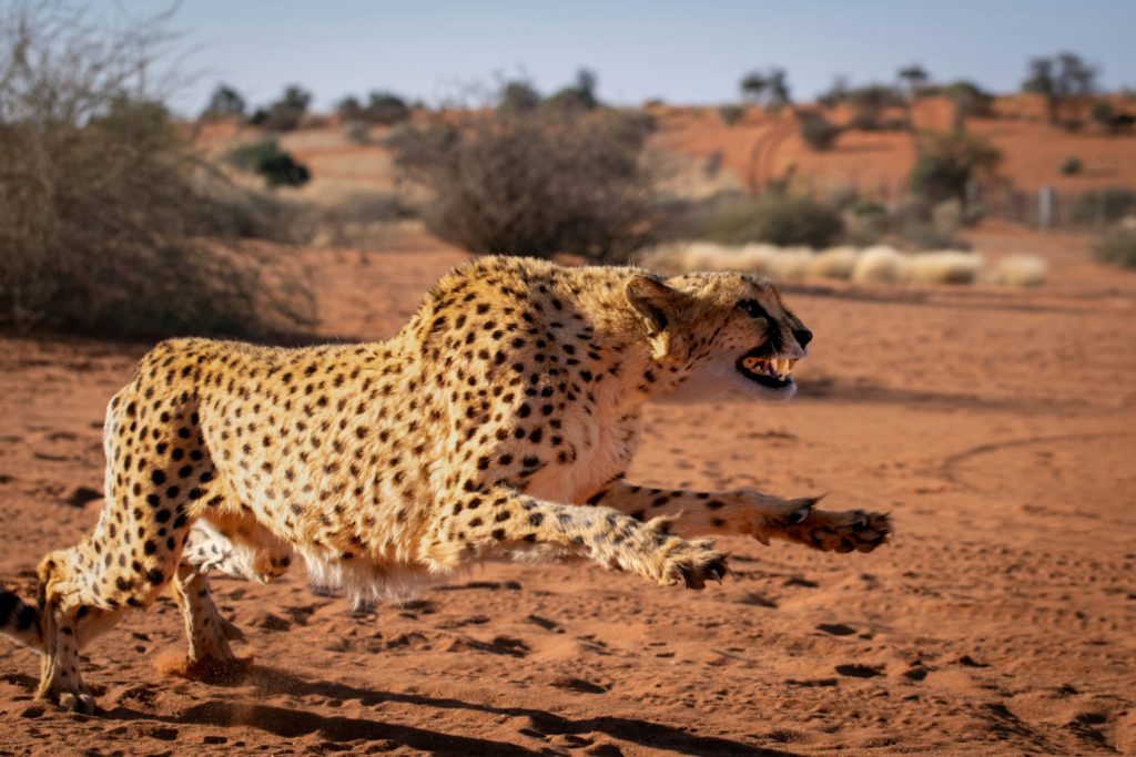
M 817 510 L 820 497 L 780 499 L 740 489 L 717 494 L 655 489 L 612 481 L 586 501 L 603 504 L 636 520 L 669 515 L 684 536 L 744 533 L 762 544 L 794 541 L 821 552 L 871 552 L 887 541 L 891 519 L 862 510 Z

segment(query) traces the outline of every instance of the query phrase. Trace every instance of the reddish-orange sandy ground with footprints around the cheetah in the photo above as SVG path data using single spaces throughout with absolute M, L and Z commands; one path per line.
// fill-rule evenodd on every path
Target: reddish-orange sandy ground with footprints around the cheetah
M 0 754 L 1136 754 L 1136 274 L 1009 228 L 1036 291 L 788 289 L 817 334 L 786 404 L 659 406 L 643 483 L 829 491 L 891 511 L 871 555 L 724 539 L 701 592 L 578 563 L 491 565 L 352 614 L 302 570 L 218 578 L 251 675 L 156 668 L 161 599 L 85 653 L 98 716 L 32 700 L 0 640 Z M 308 253 L 329 339 L 393 334 L 462 254 Z M 100 426 L 149 345 L 0 337 L 0 581 L 33 591 L 101 498 Z

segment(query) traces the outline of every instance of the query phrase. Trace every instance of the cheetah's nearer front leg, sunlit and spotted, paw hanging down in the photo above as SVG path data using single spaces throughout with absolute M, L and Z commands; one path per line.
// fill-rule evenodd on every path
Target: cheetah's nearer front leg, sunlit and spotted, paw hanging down
M 426 562 L 445 570 L 492 554 L 550 547 L 590 557 L 660 584 L 701 589 L 721 579 L 726 557 L 709 541 L 674 536 L 668 519 L 642 523 L 608 507 L 583 508 L 537 499 L 506 485 L 454 496 L 424 542 Z

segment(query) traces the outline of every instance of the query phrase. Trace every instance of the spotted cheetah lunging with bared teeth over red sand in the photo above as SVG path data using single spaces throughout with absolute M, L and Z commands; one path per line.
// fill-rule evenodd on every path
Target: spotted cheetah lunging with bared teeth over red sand
M 210 571 L 272 581 L 299 556 L 369 603 L 502 557 L 702 588 L 715 535 L 870 552 L 885 514 L 625 480 L 644 403 L 787 398 L 811 338 L 761 277 L 484 256 L 389 342 L 162 342 L 110 399 L 94 530 L 43 558 L 34 604 L 0 591 L 0 630 L 41 654 L 39 698 L 92 712 L 78 650 L 167 584 L 186 670 L 239 665 Z

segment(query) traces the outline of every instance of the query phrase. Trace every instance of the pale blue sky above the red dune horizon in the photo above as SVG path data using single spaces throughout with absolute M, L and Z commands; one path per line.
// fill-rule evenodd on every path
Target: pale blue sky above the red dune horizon
M 122 20 L 164 6 L 97 7 Z M 836 75 L 892 81 L 913 61 L 1009 92 L 1030 57 L 1062 50 L 1099 66 L 1104 87 L 1136 87 L 1136 0 L 182 0 L 174 26 L 199 74 L 174 99 L 182 111 L 219 81 L 253 103 L 299 83 L 326 109 L 371 89 L 434 103 L 518 73 L 546 92 L 580 66 L 627 104 L 725 102 L 774 64 L 802 100 Z

